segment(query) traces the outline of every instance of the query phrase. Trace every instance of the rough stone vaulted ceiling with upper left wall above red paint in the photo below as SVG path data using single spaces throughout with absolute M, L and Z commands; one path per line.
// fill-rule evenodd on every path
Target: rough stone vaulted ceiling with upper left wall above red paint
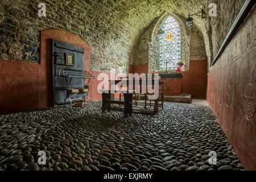
M 38 4 L 46 3 L 46 18 Z M 217 4 L 217 17 L 208 17 L 208 5 Z M 193 17 L 203 33 L 212 61 L 245 0 L 2 0 L 0 2 L 0 58 L 39 63 L 39 34 L 60 28 L 80 36 L 92 48 L 91 69 L 127 72 L 133 46 L 143 30 L 164 11 L 187 17 L 205 9 L 206 19 Z

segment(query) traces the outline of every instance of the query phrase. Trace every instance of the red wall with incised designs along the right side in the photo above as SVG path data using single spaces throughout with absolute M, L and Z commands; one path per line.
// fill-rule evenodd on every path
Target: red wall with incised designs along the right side
M 210 69 L 207 101 L 247 170 L 256 170 L 256 9 Z

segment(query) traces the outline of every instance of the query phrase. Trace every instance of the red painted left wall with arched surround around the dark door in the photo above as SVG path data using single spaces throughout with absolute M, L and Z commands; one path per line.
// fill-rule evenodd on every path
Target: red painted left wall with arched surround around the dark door
M 40 64 L 0 60 L 0 113 L 52 106 L 51 39 L 84 48 L 85 70 L 90 71 L 90 47 L 78 36 L 64 30 L 41 32 Z M 90 82 L 90 99 L 101 100 L 97 75 Z

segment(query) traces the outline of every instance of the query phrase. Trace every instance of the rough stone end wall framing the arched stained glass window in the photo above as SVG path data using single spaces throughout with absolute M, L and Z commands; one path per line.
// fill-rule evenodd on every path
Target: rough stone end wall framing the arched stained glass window
M 152 40 L 150 43 L 148 43 L 148 47 L 146 45 L 146 42 L 144 42 L 145 44 L 138 44 L 138 46 L 135 48 L 137 50 L 137 54 L 135 54 L 134 56 L 134 62 L 133 62 L 134 65 L 142 64 L 142 63 L 148 64 L 148 72 L 159 72 L 159 38 L 158 38 L 157 32 L 159 31 L 159 28 L 161 27 L 162 22 L 164 22 L 164 20 L 166 20 L 166 18 L 169 15 L 173 16 L 177 20 L 180 26 L 181 61 L 183 61 L 184 63 L 184 71 L 188 71 L 190 60 L 207 59 L 207 55 L 205 53 L 204 38 L 199 28 L 197 28 L 196 26 L 193 26 L 192 28 L 188 29 L 183 24 L 183 22 L 185 22 L 184 17 L 181 17 L 179 15 L 166 14 L 158 20 L 155 26 L 150 26 L 146 29 L 145 32 L 150 32 L 148 30 L 154 28 L 154 32 L 152 33 Z M 151 36 L 151 35 L 143 34 L 143 36 L 141 36 L 139 40 L 143 42 L 143 40 L 146 39 L 146 36 Z M 144 54 L 141 53 L 141 47 L 144 47 L 144 49 L 148 48 L 148 55 L 146 55 L 145 53 Z

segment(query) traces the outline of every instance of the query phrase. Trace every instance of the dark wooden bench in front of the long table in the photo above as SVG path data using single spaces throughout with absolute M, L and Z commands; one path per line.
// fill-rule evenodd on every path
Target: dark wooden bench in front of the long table
M 119 104 L 123 105 L 123 114 L 127 117 L 128 114 L 133 114 L 133 93 L 135 90 L 128 90 L 126 93 L 123 93 L 121 90 L 115 91 L 115 93 L 123 93 L 124 101 L 115 101 L 114 93 L 110 93 L 110 90 L 100 90 L 102 95 L 102 106 L 101 110 L 104 112 L 105 110 L 111 110 L 111 104 Z

